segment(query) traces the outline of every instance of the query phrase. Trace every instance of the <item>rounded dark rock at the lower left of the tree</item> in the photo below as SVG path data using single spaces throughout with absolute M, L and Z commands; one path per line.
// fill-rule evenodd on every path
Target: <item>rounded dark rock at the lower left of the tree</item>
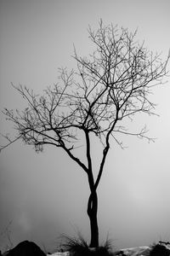
M 46 256 L 33 241 L 21 241 L 9 251 L 8 256 Z

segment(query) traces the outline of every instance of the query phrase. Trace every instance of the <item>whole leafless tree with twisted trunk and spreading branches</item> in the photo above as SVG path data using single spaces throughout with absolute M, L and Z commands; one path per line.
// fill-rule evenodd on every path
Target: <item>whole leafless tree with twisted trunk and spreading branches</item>
M 88 28 L 94 52 L 81 57 L 74 51 L 77 72 L 59 69 L 59 84 L 48 87 L 42 96 L 33 90 L 19 86 L 21 96 L 27 102 L 22 111 L 5 109 L 3 113 L 14 123 L 17 131 L 14 140 L 8 139 L 7 147 L 21 138 L 33 145 L 37 152 L 44 145 L 62 148 L 86 172 L 90 195 L 88 217 L 91 227 L 90 247 L 99 246 L 97 221 L 97 188 L 104 171 L 111 137 L 120 146 L 117 134 L 133 135 L 152 140 L 146 135 L 145 127 L 133 133 L 126 125 L 126 119 L 133 119 L 136 113 L 154 114 L 155 104 L 150 102 L 152 87 L 163 83 L 167 75 L 166 61 L 159 54 L 153 54 L 136 41 L 136 32 L 118 29 L 117 26 Z M 125 126 L 126 125 L 126 126 Z M 81 136 L 80 136 L 81 135 Z M 83 137 L 82 137 L 83 135 Z M 93 136 L 102 143 L 98 175 L 94 178 L 91 143 Z M 84 143 L 84 158 L 77 157 L 76 148 Z

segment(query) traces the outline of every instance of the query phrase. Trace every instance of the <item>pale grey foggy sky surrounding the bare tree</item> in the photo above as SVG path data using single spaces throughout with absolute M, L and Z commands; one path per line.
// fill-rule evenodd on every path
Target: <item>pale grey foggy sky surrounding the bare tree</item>
M 96 29 L 100 18 L 105 25 L 138 28 L 139 41 L 164 58 L 170 48 L 169 9 L 168 0 L 0 0 L 0 110 L 25 107 L 11 82 L 41 94 L 57 83 L 58 67 L 76 68 L 73 45 L 88 55 L 88 25 Z M 111 143 L 98 189 L 100 241 L 109 235 L 118 248 L 170 241 L 169 95 L 167 80 L 151 96 L 159 117 L 141 116 L 133 123 L 136 129 L 146 124 L 155 143 L 124 137 L 123 150 Z M 14 135 L 2 113 L 0 119 L 1 133 Z M 88 178 L 62 150 L 48 147 L 36 154 L 20 141 L 5 148 L 0 248 L 30 240 L 53 251 L 61 234 L 77 231 L 89 241 L 88 195 Z

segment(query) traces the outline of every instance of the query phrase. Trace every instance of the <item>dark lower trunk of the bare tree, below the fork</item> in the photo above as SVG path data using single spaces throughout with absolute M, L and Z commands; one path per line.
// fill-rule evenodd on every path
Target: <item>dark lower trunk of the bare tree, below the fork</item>
M 98 229 L 98 195 L 96 191 L 92 192 L 88 199 L 88 217 L 90 219 L 91 241 L 89 247 L 99 247 L 99 229 Z

